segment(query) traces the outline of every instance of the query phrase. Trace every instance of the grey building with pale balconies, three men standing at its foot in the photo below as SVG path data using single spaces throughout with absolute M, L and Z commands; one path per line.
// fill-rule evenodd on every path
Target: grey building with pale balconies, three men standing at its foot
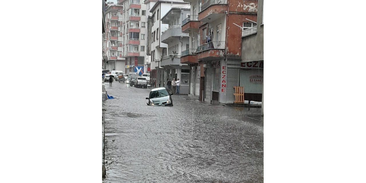
M 189 34 L 182 33 L 182 20 L 190 15 L 190 5 L 184 4 L 172 7 L 161 18 L 162 24 L 168 24 L 167 30 L 162 30 L 161 42 L 167 44 L 167 52 L 163 52 L 160 66 L 165 68 L 164 78 L 172 80 L 180 79 L 180 94 L 189 93 L 190 67 L 180 63 L 183 50 L 189 49 Z M 165 80 L 167 80 L 165 79 Z

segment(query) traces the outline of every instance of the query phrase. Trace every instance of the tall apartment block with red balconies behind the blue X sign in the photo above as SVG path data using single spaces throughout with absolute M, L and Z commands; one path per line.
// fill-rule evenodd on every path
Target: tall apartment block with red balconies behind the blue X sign
M 118 51 L 126 59 L 126 73 L 146 71 L 146 5 L 142 0 L 119 0 L 121 10 L 120 36 L 122 36 Z

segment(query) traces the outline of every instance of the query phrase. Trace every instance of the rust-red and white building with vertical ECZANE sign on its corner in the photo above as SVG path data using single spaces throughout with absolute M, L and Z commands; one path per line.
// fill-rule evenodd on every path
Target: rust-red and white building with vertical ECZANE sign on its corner
M 191 66 L 190 94 L 201 101 L 232 103 L 242 59 L 240 25 L 257 21 L 257 0 L 184 1 L 191 3 L 191 15 L 182 23 L 190 48 L 181 63 Z

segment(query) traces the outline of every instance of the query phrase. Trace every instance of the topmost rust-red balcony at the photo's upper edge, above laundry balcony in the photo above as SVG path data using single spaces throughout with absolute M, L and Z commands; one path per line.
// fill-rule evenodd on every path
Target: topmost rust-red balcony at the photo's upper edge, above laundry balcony
M 201 5 L 201 12 L 198 13 L 198 20 L 201 22 L 213 22 L 216 19 L 225 16 L 228 10 L 227 0 L 208 0 Z

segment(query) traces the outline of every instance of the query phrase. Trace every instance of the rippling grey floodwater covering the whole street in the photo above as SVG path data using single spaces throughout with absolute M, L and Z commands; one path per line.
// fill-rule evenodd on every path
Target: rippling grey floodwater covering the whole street
M 147 106 L 150 89 L 105 85 L 115 99 L 103 102 L 104 183 L 263 182 L 263 124 L 245 117 L 258 109 L 177 95 L 173 107 Z

